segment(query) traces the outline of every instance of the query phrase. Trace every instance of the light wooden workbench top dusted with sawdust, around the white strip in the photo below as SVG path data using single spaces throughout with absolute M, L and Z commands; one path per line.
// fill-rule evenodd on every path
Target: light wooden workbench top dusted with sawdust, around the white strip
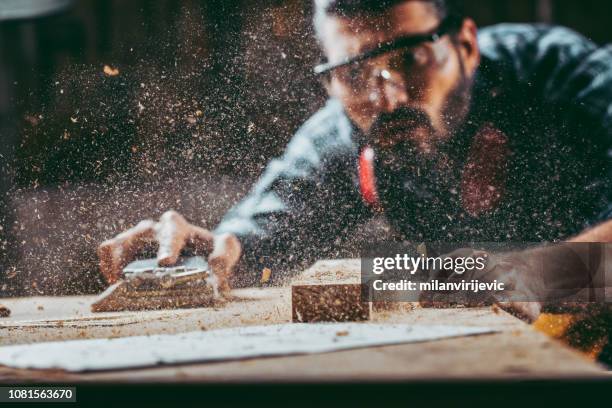
M 324 261 L 315 270 L 356 272 L 359 261 Z M 234 291 L 219 308 L 92 314 L 95 297 L 0 299 L 0 345 L 81 338 L 178 333 L 291 321 L 289 287 Z M 536 332 L 498 308 L 402 307 L 372 321 L 487 326 L 499 333 L 318 355 L 72 374 L 0 367 L 0 381 L 269 382 L 541 379 L 608 377 L 582 354 Z

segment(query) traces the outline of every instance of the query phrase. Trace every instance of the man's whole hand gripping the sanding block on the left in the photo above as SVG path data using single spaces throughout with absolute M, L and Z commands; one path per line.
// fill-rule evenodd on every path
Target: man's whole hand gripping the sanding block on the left
M 168 211 L 158 222 L 141 221 L 138 225 L 104 241 L 98 247 L 100 271 L 109 283 L 116 282 L 123 268 L 145 248 L 157 244 L 160 266 L 175 264 L 185 248 L 208 254 L 208 263 L 219 281 L 219 290 L 229 290 L 229 278 L 242 254 L 235 235 L 213 235 L 192 225 L 176 211 Z

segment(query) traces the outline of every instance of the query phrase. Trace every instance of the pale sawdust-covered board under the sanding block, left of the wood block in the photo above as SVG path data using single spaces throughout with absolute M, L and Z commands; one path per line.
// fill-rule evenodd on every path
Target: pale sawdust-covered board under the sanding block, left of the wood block
M 92 313 L 96 296 L 6 299 L 10 318 L 0 321 L 0 345 L 84 338 L 173 334 L 291 320 L 288 288 L 241 289 L 220 307 Z

